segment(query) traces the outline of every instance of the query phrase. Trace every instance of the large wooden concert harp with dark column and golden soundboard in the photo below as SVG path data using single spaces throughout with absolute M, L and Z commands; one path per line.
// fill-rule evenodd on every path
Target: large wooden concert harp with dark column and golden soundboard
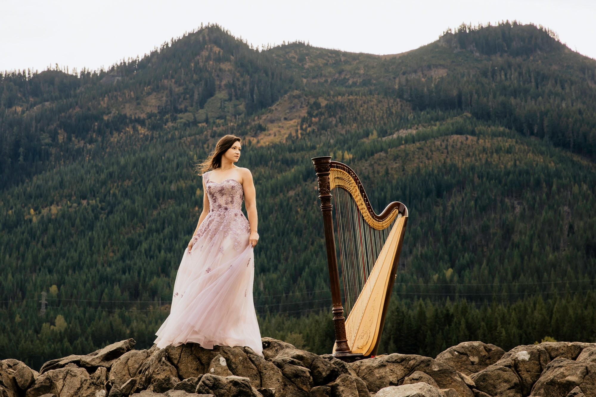
M 318 178 L 333 299 L 333 355 L 344 361 L 367 358 L 377 354 L 381 340 L 408 209 L 393 201 L 377 215 L 349 166 L 330 156 L 315 157 L 312 163 Z

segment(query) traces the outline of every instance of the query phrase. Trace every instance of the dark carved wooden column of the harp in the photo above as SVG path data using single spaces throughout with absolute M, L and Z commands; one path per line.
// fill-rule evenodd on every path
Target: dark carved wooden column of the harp
M 318 179 L 321 212 L 323 213 L 323 224 L 325 227 L 327 263 L 331 281 L 331 298 L 333 299 L 333 324 L 336 331 L 336 353 L 351 353 L 350 346 L 347 345 L 346 319 L 343 317 L 342 296 L 339 290 L 339 272 L 337 271 L 335 240 L 333 236 L 333 218 L 331 218 L 331 209 L 333 209 L 333 205 L 331 205 L 331 184 L 329 182 L 331 156 L 314 157 L 311 160 L 315 166 L 316 177 Z

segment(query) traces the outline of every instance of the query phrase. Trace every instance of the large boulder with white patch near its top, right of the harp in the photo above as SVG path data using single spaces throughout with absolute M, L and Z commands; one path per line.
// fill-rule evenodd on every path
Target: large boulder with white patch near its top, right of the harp
M 489 395 L 500 396 L 499 393 L 506 392 L 508 396 L 527 396 L 549 361 L 550 355 L 541 345 L 517 346 L 495 364 L 473 374 L 471 379 L 477 390 Z M 492 379 L 495 376 L 496 379 Z

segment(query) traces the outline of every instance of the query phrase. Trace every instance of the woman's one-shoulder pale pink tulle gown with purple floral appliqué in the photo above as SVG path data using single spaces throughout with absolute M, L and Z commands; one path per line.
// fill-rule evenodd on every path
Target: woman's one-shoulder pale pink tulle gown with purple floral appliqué
M 204 173 L 209 213 L 185 248 L 174 283 L 170 315 L 157 330 L 158 348 L 196 342 L 249 346 L 263 355 L 253 303 L 254 256 L 250 225 L 241 211 L 240 182 L 209 181 Z

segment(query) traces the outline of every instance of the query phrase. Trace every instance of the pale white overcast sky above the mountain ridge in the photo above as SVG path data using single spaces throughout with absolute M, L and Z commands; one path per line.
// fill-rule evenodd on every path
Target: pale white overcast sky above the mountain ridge
M 462 22 L 507 19 L 550 27 L 571 49 L 596 58 L 596 0 L 0 0 L 0 70 L 109 67 L 201 23 L 217 23 L 254 45 L 299 39 L 396 54 Z

